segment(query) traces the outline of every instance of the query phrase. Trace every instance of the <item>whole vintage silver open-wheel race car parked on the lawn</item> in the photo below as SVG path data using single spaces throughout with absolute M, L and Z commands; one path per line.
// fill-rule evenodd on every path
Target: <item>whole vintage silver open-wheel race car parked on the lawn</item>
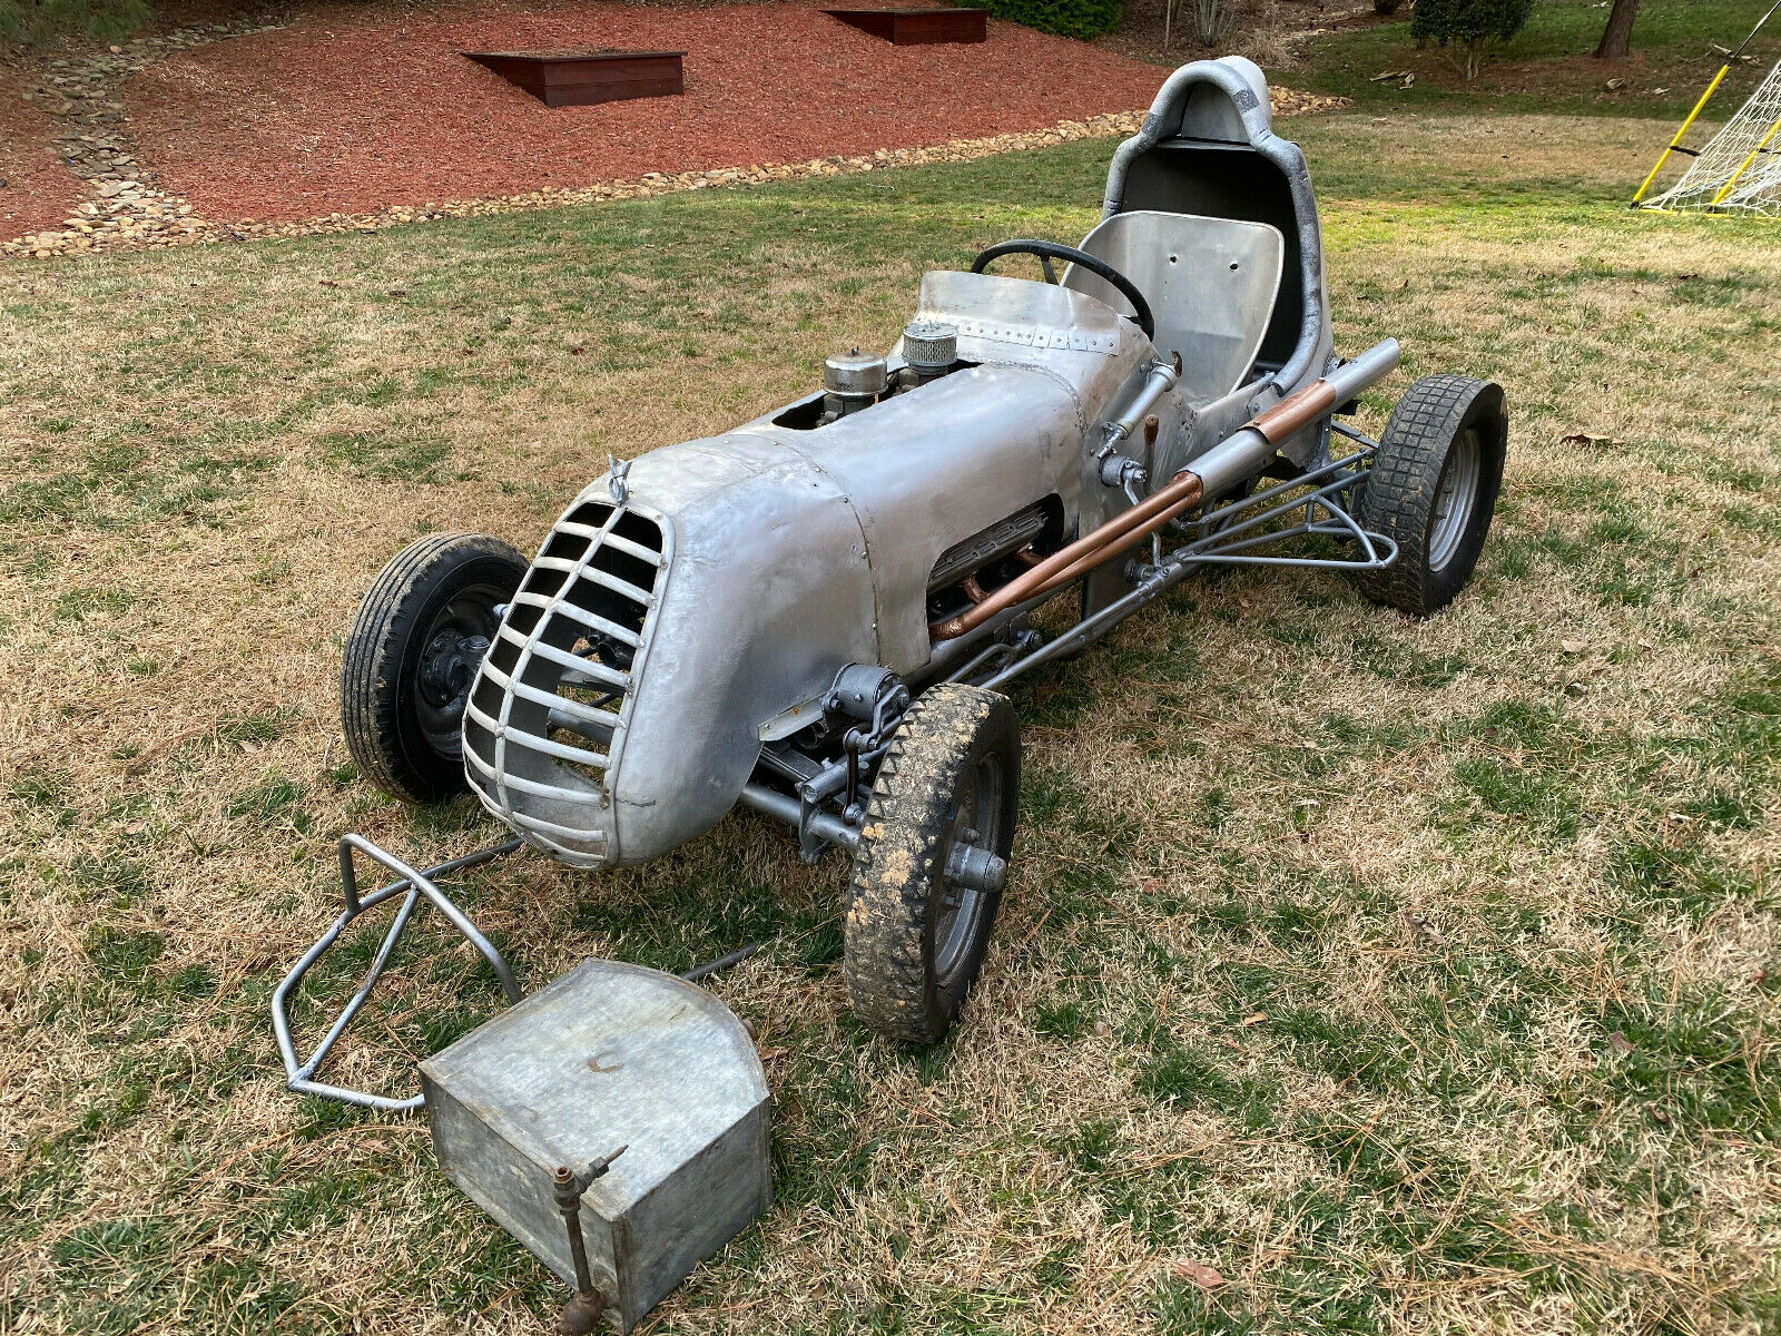
M 987 273 L 1013 255 L 1045 281 Z M 1393 340 L 1334 351 L 1261 71 L 1184 66 L 1081 244 L 926 274 L 887 354 L 611 461 L 531 561 L 483 534 L 399 554 L 347 639 L 347 743 L 385 791 L 468 787 L 572 868 L 648 862 L 737 803 L 805 857 L 842 846 L 853 1010 L 933 1042 L 1013 851 L 1015 677 L 1209 565 L 1348 568 L 1418 616 L 1471 575 L 1503 392 L 1432 376 L 1378 440 L 1339 420 L 1396 365 Z M 1070 615 L 1035 618 L 1053 600 Z

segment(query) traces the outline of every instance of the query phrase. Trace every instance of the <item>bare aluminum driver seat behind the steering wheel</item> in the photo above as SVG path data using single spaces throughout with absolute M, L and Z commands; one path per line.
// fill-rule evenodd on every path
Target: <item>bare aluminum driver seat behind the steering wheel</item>
M 1286 239 L 1279 228 L 1138 208 L 1102 221 L 1081 249 L 1143 292 L 1156 317 L 1156 351 L 1181 354 L 1190 403 L 1208 404 L 1243 385 L 1281 294 Z M 1063 287 L 1133 314 L 1111 283 L 1079 265 L 1063 271 Z

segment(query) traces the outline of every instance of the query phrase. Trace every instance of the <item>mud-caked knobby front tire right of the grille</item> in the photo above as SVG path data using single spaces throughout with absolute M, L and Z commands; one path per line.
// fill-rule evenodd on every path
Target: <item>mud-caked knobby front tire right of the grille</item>
M 947 868 L 960 844 L 1006 860 L 1019 796 L 1021 727 L 1006 697 L 942 682 L 910 705 L 853 855 L 844 974 L 862 1024 L 912 1044 L 953 1028 L 1001 894 L 955 885 Z

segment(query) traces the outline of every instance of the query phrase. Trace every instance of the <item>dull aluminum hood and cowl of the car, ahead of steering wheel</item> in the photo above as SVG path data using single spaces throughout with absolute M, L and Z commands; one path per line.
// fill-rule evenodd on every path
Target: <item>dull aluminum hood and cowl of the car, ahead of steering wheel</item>
M 484 663 L 470 693 L 470 780 L 520 835 L 593 868 L 709 830 L 741 796 L 762 725 L 821 698 L 842 664 L 928 664 L 928 575 L 942 552 L 1053 495 L 1076 522 L 1085 442 L 1142 381 L 1143 335 L 1094 297 L 994 274 L 928 274 L 915 315 L 956 326 L 958 358 L 976 365 L 826 426 L 775 422 L 791 404 L 632 461 L 623 506 L 663 529 L 670 556 L 604 771 L 527 745 L 502 716 L 525 673 L 497 656 L 508 680 Z M 563 522 L 609 501 L 600 479 Z M 534 654 L 527 668 L 552 691 L 565 664 Z M 563 834 L 577 825 L 581 837 Z

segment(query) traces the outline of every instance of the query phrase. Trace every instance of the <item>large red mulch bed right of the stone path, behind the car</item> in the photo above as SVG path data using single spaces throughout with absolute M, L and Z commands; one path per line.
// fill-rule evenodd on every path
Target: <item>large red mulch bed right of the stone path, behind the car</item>
M 459 55 L 559 46 L 686 50 L 686 94 L 549 109 Z M 803 4 L 593 0 L 328 7 L 150 66 L 126 100 L 167 189 L 278 223 L 1037 130 L 1147 107 L 1165 73 L 994 20 L 983 45 L 892 46 Z

